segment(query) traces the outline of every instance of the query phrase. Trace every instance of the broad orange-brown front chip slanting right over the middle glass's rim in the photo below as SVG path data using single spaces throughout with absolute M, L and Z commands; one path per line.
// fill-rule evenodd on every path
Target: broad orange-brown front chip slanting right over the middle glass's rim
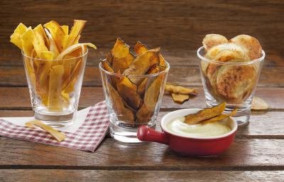
M 129 65 L 129 68 L 124 71 L 125 75 L 144 75 L 153 65 L 158 64 L 159 60 L 159 48 L 147 50 L 145 53 L 138 55 L 135 60 Z M 129 77 L 131 82 L 139 84 L 141 78 Z

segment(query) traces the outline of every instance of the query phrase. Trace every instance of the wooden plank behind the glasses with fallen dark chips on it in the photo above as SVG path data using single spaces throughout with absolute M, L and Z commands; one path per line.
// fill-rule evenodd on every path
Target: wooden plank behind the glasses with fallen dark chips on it
M 192 97 L 182 105 L 173 102 L 170 95 L 165 93 L 161 110 L 173 110 L 178 108 L 205 107 L 204 91 L 202 87 L 197 89 L 197 97 Z M 31 109 L 30 95 L 27 87 L 0 87 L 0 109 Z M 256 95 L 268 102 L 269 109 L 284 109 L 284 88 L 258 87 Z M 275 97 L 271 97 L 275 95 Z M 82 87 L 79 107 L 89 107 L 104 100 L 102 87 Z

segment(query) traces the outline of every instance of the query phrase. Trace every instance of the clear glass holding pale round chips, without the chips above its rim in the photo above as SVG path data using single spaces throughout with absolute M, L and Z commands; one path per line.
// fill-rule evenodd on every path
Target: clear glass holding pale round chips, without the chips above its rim
M 244 126 L 251 116 L 251 101 L 261 74 L 261 67 L 266 56 L 262 50 L 261 58 L 240 63 L 237 60 L 219 62 L 204 57 L 204 47 L 197 50 L 200 58 L 200 74 L 204 95 L 208 107 L 226 102 L 225 113 L 238 108 L 233 119 Z

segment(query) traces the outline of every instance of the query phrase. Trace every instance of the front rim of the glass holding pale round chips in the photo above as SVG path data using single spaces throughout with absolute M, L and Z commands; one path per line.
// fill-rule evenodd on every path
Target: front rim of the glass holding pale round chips
M 217 64 L 220 64 L 220 65 L 250 65 L 250 64 L 253 64 L 253 63 L 261 62 L 266 57 L 266 53 L 264 52 L 264 50 L 261 50 L 261 58 L 257 58 L 255 60 L 250 60 L 250 61 L 247 61 L 247 62 L 239 62 L 239 63 L 220 62 L 220 61 L 217 61 L 217 60 L 210 60 L 208 58 L 205 58 L 203 55 L 201 55 L 200 52 L 204 49 L 205 49 L 204 46 L 197 49 L 198 58 L 200 58 L 201 60 L 204 60 L 208 63 L 217 63 Z

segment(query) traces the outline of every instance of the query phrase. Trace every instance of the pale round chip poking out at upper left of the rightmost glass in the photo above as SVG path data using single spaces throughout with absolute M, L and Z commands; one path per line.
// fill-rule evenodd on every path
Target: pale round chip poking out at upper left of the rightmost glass
M 225 36 L 219 35 L 219 34 L 207 34 L 202 41 L 202 44 L 205 48 L 205 50 L 209 50 L 215 45 L 219 45 L 222 43 L 227 43 L 228 39 L 226 39 Z

